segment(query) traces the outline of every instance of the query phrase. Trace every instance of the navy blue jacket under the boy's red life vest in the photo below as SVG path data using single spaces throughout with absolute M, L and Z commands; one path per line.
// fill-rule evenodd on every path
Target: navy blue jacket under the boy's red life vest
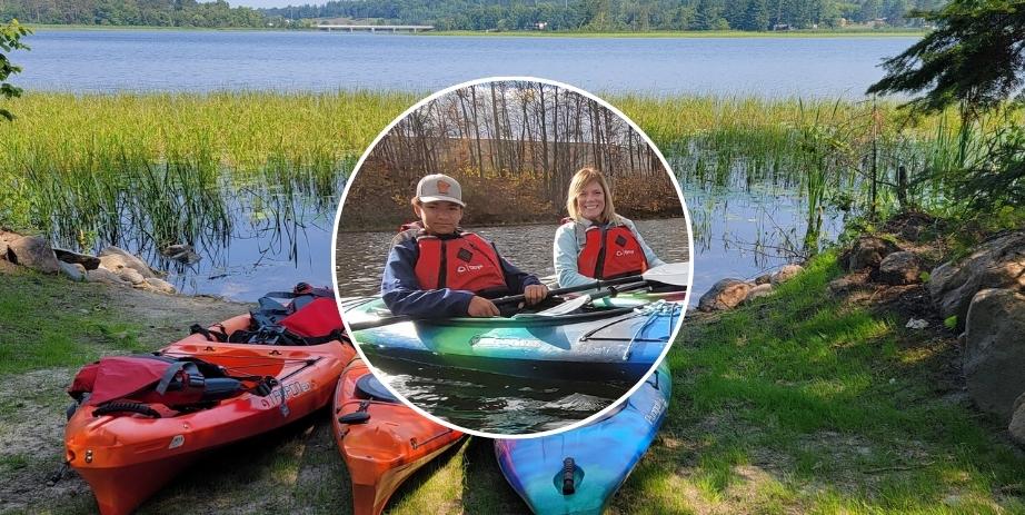
M 495 245 L 491 244 L 491 247 Z M 495 252 L 498 254 L 497 248 Z M 388 309 L 395 315 L 415 317 L 467 316 L 470 299 L 476 294 L 450 288 L 420 289 L 415 271 L 419 257 L 420 249 L 416 238 L 396 238 L 388 254 L 385 275 L 381 278 L 381 297 Z M 536 276 L 520 271 L 501 255 L 498 255 L 498 261 L 506 278 L 506 287 L 509 288 L 509 295 L 523 294 L 527 286 L 541 284 Z

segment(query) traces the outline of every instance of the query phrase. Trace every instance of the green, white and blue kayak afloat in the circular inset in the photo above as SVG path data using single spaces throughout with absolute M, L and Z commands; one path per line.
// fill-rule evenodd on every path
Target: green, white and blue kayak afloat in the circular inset
M 341 306 L 349 324 L 391 316 L 376 297 Z M 683 304 L 665 296 L 626 295 L 567 315 L 401 321 L 356 330 L 352 339 L 386 372 L 426 365 L 633 386 L 661 356 L 681 315 Z

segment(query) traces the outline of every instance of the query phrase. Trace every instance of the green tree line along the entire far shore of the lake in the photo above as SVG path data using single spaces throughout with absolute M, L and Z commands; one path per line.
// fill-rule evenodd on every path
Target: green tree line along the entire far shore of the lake
M 223 0 L 0 0 L 0 22 L 306 27 L 317 18 L 429 23 L 440 30 L 649 31 L 918 27 L 909 12 L 944 0 L 335 0 L 277 9 Z M 539 26 L 540 24 L 540 26 Z

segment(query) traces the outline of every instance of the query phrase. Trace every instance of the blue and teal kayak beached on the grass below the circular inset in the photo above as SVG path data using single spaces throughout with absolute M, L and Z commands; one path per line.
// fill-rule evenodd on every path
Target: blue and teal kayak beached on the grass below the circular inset
M 496 439 L 498 465 L 538 515 L 600 514 L 655 439 L 670 390 L 663 363 L 597 422 L 553 436 Z

